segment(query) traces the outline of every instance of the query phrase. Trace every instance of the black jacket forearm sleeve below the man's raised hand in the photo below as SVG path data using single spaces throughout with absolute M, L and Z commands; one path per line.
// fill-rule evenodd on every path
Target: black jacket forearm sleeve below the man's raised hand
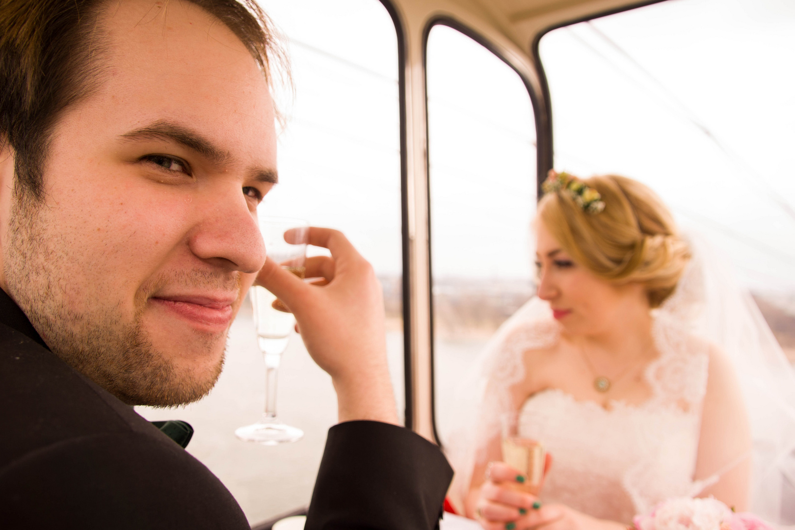
M 305 530 L 431 530 L 451 479 L 439 447 L 408 429 L 377 421 L 335 425 Z

